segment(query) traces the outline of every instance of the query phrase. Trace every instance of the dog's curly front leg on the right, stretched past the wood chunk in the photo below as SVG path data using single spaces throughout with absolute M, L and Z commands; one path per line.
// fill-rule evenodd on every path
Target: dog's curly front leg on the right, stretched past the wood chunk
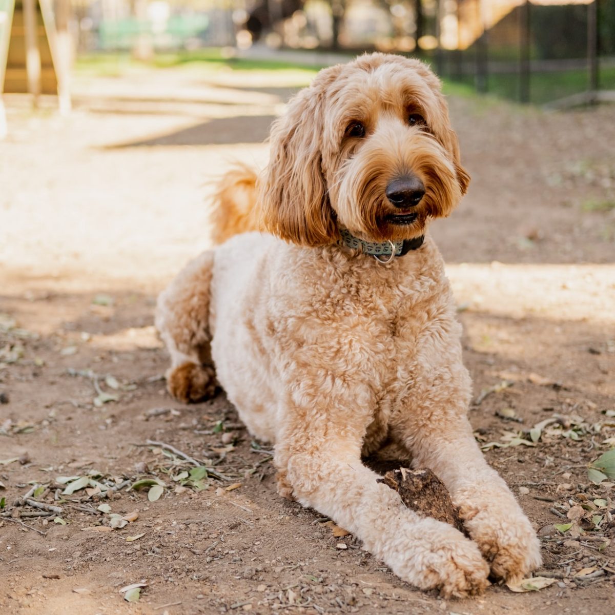
M 435 356 L 447 354 L 442 349 Z M 540 565 L 540 543 L 515 496 L 478 448 L 467 419 L 469 375 L 461 349 L 454 355 L 458 360 L 450 365 L 434 365 L 434 355 L 419 357 L 415 385 L 395 418 L 393 434 L 410 450 L 415 467 L 429 467 L 445 483 L 491 571 L 514 581 Z M 429 371 L 421 373 L 421 365 Z

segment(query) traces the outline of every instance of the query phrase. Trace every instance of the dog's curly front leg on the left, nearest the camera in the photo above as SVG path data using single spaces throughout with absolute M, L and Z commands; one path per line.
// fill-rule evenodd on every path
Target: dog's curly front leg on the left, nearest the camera
M 293 409 L 276 443 L 282 490 L 331 517 L 395 574 L 421 589 L 463 597 L 482 592 L 489 568 L 474 542 L 446 523 L 421 518 L 360 461 L 352 413 L 339 421 Z M 312 415 L 314 421 L 304 422 Z M 286 493 L 288 494 L 288 493 Z

